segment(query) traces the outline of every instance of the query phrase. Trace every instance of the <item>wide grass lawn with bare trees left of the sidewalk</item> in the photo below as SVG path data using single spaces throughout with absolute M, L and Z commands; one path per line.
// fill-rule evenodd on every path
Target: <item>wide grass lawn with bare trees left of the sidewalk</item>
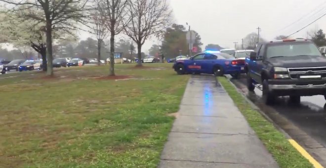
M 108 66 L 0 76 L 0 167 L 157 167 L 189 77 L 134 65 L 116 64 L 121 81 L 95 79 Z

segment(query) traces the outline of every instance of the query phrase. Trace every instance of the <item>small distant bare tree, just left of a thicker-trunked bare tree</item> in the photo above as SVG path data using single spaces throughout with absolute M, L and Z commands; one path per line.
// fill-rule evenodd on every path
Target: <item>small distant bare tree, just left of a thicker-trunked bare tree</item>
M 102 15 L 96 13 L 93 17 L 93 34 L 97 40 L 97 58 L 98 61 L 101 60 L 101 46 L 104 39 L 108 38 L 109 31 L 105 26 L 105 19 Z

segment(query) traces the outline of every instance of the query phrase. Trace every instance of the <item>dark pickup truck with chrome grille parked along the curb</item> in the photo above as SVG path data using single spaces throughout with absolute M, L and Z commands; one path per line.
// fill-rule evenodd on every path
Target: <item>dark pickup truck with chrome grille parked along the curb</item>
M 317 46 L 304 39 L 260 43 L 245 59 L 247 88 L 262 89 L 266 104 L 278 96 L 299 103 L 300 96 L 326 98 L 326 57 Z

